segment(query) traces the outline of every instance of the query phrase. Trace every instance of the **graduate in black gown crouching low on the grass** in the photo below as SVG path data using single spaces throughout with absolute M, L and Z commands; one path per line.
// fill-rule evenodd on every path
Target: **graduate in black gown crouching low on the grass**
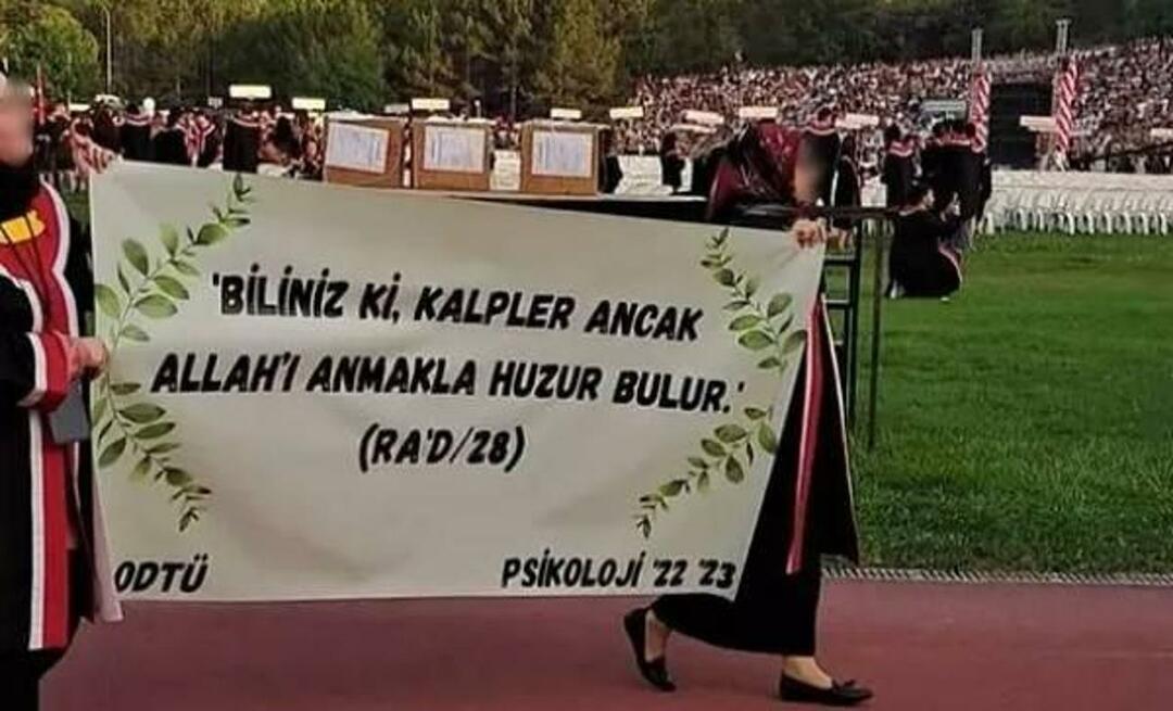
M 933 189 L 918 183 L 900 210 L 888 255 L 888 297 L 944 298 L 961 287 L 961 256 L 949 246 L 961 216 L 935 210 Z

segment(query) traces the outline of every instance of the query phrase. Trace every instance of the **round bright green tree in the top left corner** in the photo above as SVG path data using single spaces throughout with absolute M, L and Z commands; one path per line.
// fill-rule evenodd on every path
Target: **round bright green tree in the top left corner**
M 0 6 L 0 56 L 32 80 L 38 67 L 57 99 L 91 96 L 97 88 L 97 40 L 67 9 L 39 2 Z

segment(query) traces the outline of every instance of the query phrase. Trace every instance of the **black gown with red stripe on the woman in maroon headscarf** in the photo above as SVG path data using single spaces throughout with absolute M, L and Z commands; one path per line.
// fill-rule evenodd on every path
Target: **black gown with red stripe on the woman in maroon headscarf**
M 726 649 L 813 656 L 820 557 L 859 560 L 843 399 L 821 297 L 811 318 L 737 598 L 660 597 L 652 611 L 676 632 Z

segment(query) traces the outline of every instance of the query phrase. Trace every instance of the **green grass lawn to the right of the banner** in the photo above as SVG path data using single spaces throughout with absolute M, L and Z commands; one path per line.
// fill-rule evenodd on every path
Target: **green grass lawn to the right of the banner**
M 869 564 L 1173 570 L 1173 238 L 988 238 L 883 333 Z

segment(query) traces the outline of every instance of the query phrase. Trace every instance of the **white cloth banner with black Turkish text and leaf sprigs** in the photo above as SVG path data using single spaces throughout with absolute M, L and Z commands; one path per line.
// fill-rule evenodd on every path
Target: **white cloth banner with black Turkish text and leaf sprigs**
M 821 250 L 138 164 L 93 225 L 122 594 L 735 594 Z

